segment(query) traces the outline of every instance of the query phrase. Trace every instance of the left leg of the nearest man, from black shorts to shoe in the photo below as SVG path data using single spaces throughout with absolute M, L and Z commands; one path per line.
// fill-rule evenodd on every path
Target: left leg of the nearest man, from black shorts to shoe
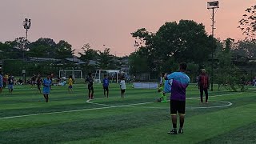
M 170 100 L 170 116 L 173 129 L 168 134 L 177 134 L 177 101 Z

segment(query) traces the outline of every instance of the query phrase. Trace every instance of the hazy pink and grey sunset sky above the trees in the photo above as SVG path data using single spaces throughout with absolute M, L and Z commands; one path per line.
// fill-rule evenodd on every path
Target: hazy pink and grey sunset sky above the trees
M 97 50 L 106 45 L 119 56 L 134 51 L 130 33 L 145 27 L 155 32 L 164 22 L 191 19 L 202 22 L 210 33 L 206 0 L 0 0 L 0 41 L 25 36 L 24 18 L 31 18 L 29 40 L 53 38 L 70 42 L 73 49 L 83 44 Z M 219 0 L 216 14 L 217 38 L 240 39 L 238 21 L 256 0 Z

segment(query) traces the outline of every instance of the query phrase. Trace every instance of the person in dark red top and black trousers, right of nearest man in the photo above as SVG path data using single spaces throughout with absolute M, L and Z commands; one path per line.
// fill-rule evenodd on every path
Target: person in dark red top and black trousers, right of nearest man
M 201 70 L 201 74 L 199 75 L 198 78 L 198 89 L 200 90 L 200 98 L 201 98 L 201 103 L 203 102 L 203 91 L 206 94 L 206 103 L 208 103 L 208 88 L 210 86 L 210 82 L 209 82 L 209 77 L 206 74 L 206 70 L 202 69 Z

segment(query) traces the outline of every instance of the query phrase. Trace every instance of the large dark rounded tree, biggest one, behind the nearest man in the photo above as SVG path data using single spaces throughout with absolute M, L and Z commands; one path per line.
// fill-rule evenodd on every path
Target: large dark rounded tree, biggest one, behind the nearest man
M 146 52 L 151 71 L 165 71 L 166 62 L 207 62 L 211 54 L 211 36 L 194 21 L 166 22 L 156 33 L 142 28 L 131 34 L 139 51 Z

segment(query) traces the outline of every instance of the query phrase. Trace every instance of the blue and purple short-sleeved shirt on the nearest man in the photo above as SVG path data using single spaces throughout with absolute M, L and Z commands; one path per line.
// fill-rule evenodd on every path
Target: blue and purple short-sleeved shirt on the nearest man
M 176 101 L 186 101 L 186 87 L 189 86 L 190 78 L 182 72 L 174 72 L 167 75 L 167 79 L 171 82 L 170 99 Z

